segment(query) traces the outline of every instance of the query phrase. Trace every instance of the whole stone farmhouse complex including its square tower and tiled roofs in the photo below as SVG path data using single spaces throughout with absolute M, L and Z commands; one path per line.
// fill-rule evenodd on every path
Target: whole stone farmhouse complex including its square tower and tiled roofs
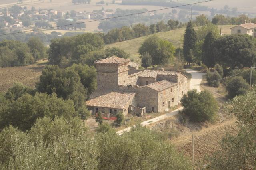
M 168 111 L 187 92 L 180 72 L 129 69 L 129 59 L 110 57 L 94 62 L 98 89 L 86 102 L 92 114 L 143 114 Z

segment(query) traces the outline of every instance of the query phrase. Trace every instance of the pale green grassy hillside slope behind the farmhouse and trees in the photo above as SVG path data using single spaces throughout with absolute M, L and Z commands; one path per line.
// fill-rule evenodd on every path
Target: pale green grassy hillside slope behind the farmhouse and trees
M 222 26 L 222 34 L 230 34 L 230 28 L 232 26 Z M 220 26 L 218 26 L 220 28 Z M 182 41 L 183 41 L 183 35 L 184 35 L 185 28 L 180 28 L 177 30 L 171 30 L 168 32 L 158 32 L 156 33 L 157 36 L 164 40 L 168 40 L 173 43 L 175 47 L 182 47 Z M 124 49 L 127 53 L 130 53 L 131 59 L 134 59 L 134 61 L 139 60 L 139 54 L 138 49 L 140 48 L 140 45 L 143 43 L 143 41 L 148 38 L 148 36 L 143 36 L 140 38 L 135 38 L 132 40 L 127 40 L 123 42 L 117 42 L 113 44 L 108 44 L 106 47 L 119 47 L 121 49 Z

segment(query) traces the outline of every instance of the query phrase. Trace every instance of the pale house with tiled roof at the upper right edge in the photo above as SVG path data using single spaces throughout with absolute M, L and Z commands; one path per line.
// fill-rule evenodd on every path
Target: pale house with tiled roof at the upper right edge
M 248 34 L 249 36 L 252 37 L 256 37 L 256 24 L 251 23 L 251 21 L 249 23 L 245 23 L 238 25 L 238 26 L 234 26 L 231 29 L 231 34 Z

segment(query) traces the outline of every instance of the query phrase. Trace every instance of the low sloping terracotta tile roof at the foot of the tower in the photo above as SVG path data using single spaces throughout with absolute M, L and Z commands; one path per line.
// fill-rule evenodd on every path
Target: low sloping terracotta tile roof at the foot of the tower
M 131 103 L 135 96 L 135 92 L 121 91 L 95 91 L 90 95 L 87 106 L 107 107 L 124 109 L 127 103 Z

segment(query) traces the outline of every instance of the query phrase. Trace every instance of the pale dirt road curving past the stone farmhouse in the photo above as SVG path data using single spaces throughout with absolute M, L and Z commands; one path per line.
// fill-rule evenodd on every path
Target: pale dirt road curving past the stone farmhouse
M 190 89 L 197 89 L 198 91 L 201 91 L 200 83 L 202 81 L 202 77 L 203 77 L 204 73 L 199 73 L 198 71 L 195 71 L 195 70 L 192 70 L 192 69 L 186 69 L 186 72 L 188 72 L 192 75 L 192 78 L 190 80 Z M 178 108 L 174 111 L 171 111 L 170 113 L 166 113 L 165 115 L 155 117 L 155 118 L 150 119 L 148 121 L 144 121 L 140 125 L 142 125 L 144 127 L 144 126 L 150 125 L 152 123 L 162 121 L 166 118 L 173 117 L 174 115 L 177 115 L 179 113 L 179 110 L 182 110 L 182 107 L 180 107 L 180 108 Z M 124 132 L 129 132 L 130 130 L 131 130 L 131 127 L 128 127 L 128 128 L 123 129 L 123 130 L 119 130 L 116 133 L 119 134 L 119 135 L 122 135 Z

